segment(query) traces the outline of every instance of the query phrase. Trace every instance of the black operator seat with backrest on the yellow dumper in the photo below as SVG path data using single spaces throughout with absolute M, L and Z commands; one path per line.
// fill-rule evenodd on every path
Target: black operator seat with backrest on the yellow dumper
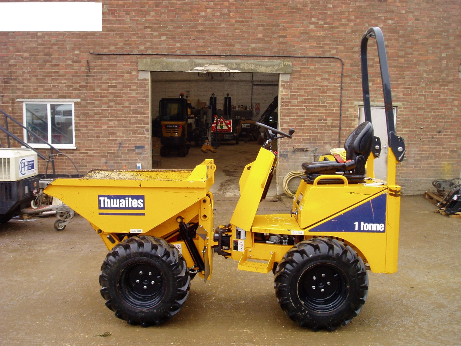
M 355 128 L 344 143 L 346 162 L 319 161 L 306 162 L 301 165 L 306 174 L 307 183 L 323 174 L 341 174 L 349 183 L 357 184 L 365 181 L 365 164 L 373 146 L 373 125 L 364 121 Z M 339 184 L 342 179 L 322 179 L 319 184 Z

